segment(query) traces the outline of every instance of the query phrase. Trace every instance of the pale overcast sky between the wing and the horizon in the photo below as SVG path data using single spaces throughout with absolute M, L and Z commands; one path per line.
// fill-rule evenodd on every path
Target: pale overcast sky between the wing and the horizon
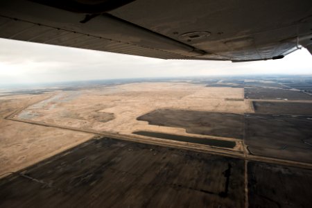
M 160 60 L 0 39 L 0 83 L 46 83 L 113 78 L 312 74 L 306 49 L 281 60 L 221 62 Z

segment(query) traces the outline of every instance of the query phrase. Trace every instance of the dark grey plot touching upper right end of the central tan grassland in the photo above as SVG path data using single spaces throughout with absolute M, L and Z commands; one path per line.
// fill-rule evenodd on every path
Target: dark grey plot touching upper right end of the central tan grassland
M 246 99 L 262 100 L 303 100 L 311 101 L 312 96 L 301 91 L 289 89 L 270 89 L 270 88 L 245 88 Z

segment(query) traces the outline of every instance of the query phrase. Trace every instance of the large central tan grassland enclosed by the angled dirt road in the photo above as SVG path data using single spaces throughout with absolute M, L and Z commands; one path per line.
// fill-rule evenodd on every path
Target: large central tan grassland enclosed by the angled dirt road
M 27 107 L 15 118 L 122 134 L 131 134 L 135 130 L 184 134 L 184 129 L 148 125 L 145 121 L 137 121 L 137 117 L 159 108 L 239 114 L 251 111 L 249 103 L 226 98 L 243 99 L 243 88 L 208 88 L 187 83 L 128 84 L 60 92 L 46 101 Z

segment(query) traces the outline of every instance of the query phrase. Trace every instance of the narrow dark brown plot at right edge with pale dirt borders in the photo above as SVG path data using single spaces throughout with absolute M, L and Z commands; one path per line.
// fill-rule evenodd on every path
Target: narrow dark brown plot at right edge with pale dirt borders
M 312 103 L 253 101 L 254 111 L 261 114 L 312 115 Z

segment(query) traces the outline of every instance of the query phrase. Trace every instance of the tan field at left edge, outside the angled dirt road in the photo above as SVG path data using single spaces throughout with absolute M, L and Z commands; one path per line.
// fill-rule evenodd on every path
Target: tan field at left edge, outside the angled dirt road
M 51 157 L 68 148 L 76 146 L 94 135 L 43 127 L 6 118 L 24 107 L 40 102 L 51 95 L 9 96 L 0 99 L 0 175 L 15 172 L 42 159 Z

